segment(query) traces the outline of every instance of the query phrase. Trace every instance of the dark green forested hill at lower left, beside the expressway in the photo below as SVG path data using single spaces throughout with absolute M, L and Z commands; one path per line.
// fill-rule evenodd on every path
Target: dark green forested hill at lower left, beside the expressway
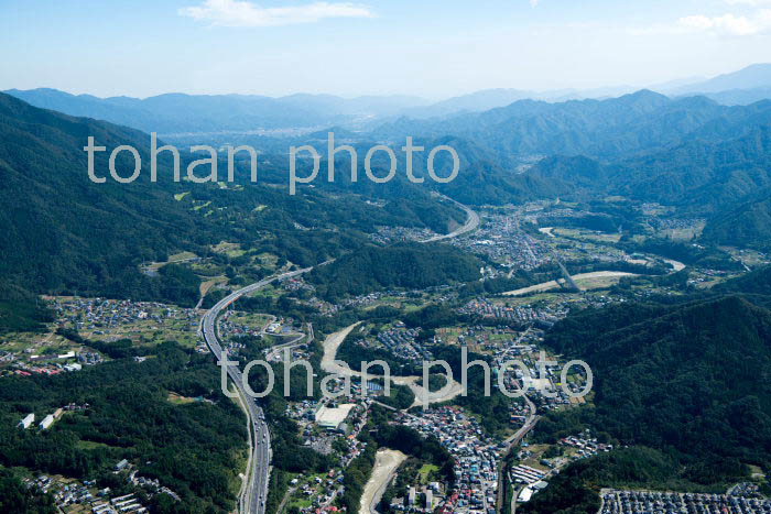
M 186 512 L 229 512 L 246 456 L 246 429 L 238 406 L 222 396 L 207 356 L 163 343 L 144 362 L 119 359 L 79 373 L 0 379 L 0 464 L 97 480 L 118 491 L 112 473 L 128 459 L 140 475 L 175 491 Z M 169 394 L 202 397 L 174 404 Z M 37 419 L 74 404 L 50 430 L 20 430 L 19 419 Z M 176 506 L 152 500 L 156 512 Z M 167 508 L 171 508 L 167 511 Z

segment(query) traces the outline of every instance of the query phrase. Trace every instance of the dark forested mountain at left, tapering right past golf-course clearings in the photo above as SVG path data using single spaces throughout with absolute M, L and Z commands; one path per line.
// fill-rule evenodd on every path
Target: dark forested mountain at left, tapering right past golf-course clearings
M 140 178 L 132 184 L 91 183 L 83 151 L 88 135 L 108 149 L 97 153 L 98 175 L 106 174 L 112 147 L 131 144 L 145 163 Z M 365 241 L 361 232 L 378 225 L 444 231 L 464 216 L 405 181 L 378 192 L 386 197 L 379 205 L 367 201 L 367 192 L 359 193 L 362 198 L 345 189 L 329 196 L 307 188 L 290 196 L 281 188 L 250 183 L 230 188 L 176 184 L 167 153 L 160 158 L 159 181 L 151 183 L 149 149 L 150 138 L 139 131 L 37 109 L 0 94 L 3 281 L 37 293 L 195 304 L 198 282 L 191 273 L 170 267 L 150 277 L 139 265 L 165 261 L 183 250 L 206 254 L 209 244 L 224 240 L 262 245 L 311 265 L 359 247 Z M 183 169 L 188 160 L 183 154 Z M 131 174 L 130 154 L 119 155 L 117 168 L 122 176 Z M 282 173 L 270 167 L 263 172 Z M 274 238 L 263 241 L 268 229 Z

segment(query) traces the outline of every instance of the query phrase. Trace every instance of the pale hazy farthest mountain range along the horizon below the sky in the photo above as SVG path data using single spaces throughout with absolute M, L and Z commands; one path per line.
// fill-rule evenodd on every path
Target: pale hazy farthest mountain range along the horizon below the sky
M 741 70 L 693 84 L 661 85 L 652 89 L 671 97 L 704 95 L 718 103 L 747 105 L 771 98 L 771 65 L 756 64 Z M 408 117 L 444 118 L 481 112 L 519 100 L 561 102 L 604 99 L 629 94 L 630 86 L 590 90 L 533 91 L 485 89 L 438 102 L 404 95 L 340 98 L 333 95 L 297 94 L 280 98 L 259 95 L 159 95 L 99 98 L 70 95 L 50 88 L 4 91 L 35 107 L 70 116 L 83 116 L 123 124 L 145 132 L 260 132 L 311 130 L 334 124 L 367 127 L 373 120 Z

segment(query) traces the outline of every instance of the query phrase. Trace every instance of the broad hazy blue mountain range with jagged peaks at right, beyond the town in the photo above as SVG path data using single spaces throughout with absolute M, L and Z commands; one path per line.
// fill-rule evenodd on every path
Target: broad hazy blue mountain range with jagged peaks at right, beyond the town
M 521 100 L 442 120 L 402 118 L 370 139 L 420 134 L 426 145 L 450 144 L 465 173 L 439 189 L 470 204 L 620 195 L 736 218 L 728 214 L 771 185 L 770 131 L 769 100 L 727 107 L 642 90 L 607 100 Z M 736 241 L 762 239 L 751 221 L 741 222 L 748 234 Z M 712 241 L 730 240 L 710 233 Z

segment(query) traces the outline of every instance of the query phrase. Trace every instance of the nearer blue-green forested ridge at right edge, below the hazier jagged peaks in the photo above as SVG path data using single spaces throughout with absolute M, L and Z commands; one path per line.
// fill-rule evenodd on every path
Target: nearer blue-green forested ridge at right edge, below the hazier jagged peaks
M 706 243 L 763 250 L 771 241 L 771 124 L 757 124 L 737 139 L 696 139 L 612 163 L 547 157 L 525 175 L 563 198 L 620 195 L 706 217 Z

